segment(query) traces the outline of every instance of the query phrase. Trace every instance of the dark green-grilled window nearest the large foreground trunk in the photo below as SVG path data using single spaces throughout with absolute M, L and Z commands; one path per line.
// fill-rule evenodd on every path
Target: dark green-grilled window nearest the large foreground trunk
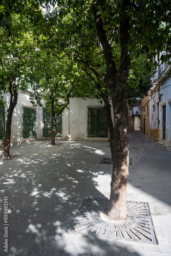
M 108 122 L 105 109 L 88 108 L 88 137 L 108 138 Z

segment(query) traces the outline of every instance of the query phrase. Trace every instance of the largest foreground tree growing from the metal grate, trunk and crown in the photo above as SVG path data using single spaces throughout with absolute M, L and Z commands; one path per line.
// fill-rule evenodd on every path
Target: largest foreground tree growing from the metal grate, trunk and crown
M 154 57 L 170 46 L 170 3 L 165 1 L 58 1 L 64 14 L 73 11 L 76 30 L 87 28 L 96 45 L 98 36 L 103 50 L 106 71 L 103 81 L 109 90 L 114 109 L 114 164 L 109 208 L 109 221 L 126 219 L 126 188 L 129 175 L 129 131 L 127 125 L 126 84 L 131 59 L 144 54 L 153 67 Z M 65 11 L 64 11 L 65 10 Z M 74 15 L 75 14 L 75 15 Z M 93 14 L 93 15 L 92 15 Z M 93 26 L 93 18 L 95 26 Z M 162 36 L 161 36 L 162 34 Z M 74 36 L 74 35 L 73 35 Z M 116 58 L 119 44 L 120 60 Z M 82 47 L 84 49 L 84 47 Z M 168 57 L 168 56 L 167 56 Z

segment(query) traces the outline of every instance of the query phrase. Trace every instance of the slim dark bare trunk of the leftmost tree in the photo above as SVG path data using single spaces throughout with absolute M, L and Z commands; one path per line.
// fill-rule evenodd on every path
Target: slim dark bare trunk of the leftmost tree
M 7 123 L 6 123 L 5 140 L 4 140 L 3 159 L 10 158 L 12 114 L 13 114 L 13 110 L 17 104 L 17 98 L 18 98 L 15 81 L 16 81 L 15 76 L 9 78 L 10 105 L 9 105 L 9 109 L 7 111 L 8 115 L 7 115 Z M 13 92 L 12 92 L 12 90 L 13 90 Z

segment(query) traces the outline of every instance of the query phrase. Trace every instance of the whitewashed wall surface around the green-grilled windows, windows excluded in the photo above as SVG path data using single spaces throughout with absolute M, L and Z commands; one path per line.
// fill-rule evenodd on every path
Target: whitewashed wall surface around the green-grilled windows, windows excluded
M 5 94 L 6 101 L 6 117 L 9 108 L 10 94 Z M 25 143 L 33 138 L 23 138 L 23 107 L 33 108 L 29 101 L 29 93 L 18 92 L 17 105 L 14 108 L 12 125 L 11 125 L 11 144 Z M 87 113 L 88 107 L 100 106 L 97 99 L 87 98 L 87 100 L 79 98 L 71 98 L 69 110 L 66 109 L 62 113 L 62 139 L 63 140 L 98 140 L 108 141 L 108 138 L 90 138 L 87 137 Z M 102 105 L 101 105 L 102 107 Z M 37 105 L 36 108 L 36 124 L 37 139 L 43 138 L 43 111 L 42 107 Z M 113 117 L 113 111 L 112 111 Z M 0 141 L 1 142 L 1 141 Z M 1 144 L 1 143 L 0 143 Z

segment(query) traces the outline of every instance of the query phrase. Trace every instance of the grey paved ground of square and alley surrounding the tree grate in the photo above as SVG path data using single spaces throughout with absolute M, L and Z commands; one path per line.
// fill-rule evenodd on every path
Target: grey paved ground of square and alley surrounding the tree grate
M 158 245 L 148 245 L 67 233 L 85 197 L 109 198 L 112 165 L 99 162 L 110 158 L 110 147 L 109 142 L 56 143 L 13 145 L 14 158 L 0 161 L 0 255 L 171 255 L 171 151 L 140 132 L 130 135 L 127 200 L 149 204 Z

